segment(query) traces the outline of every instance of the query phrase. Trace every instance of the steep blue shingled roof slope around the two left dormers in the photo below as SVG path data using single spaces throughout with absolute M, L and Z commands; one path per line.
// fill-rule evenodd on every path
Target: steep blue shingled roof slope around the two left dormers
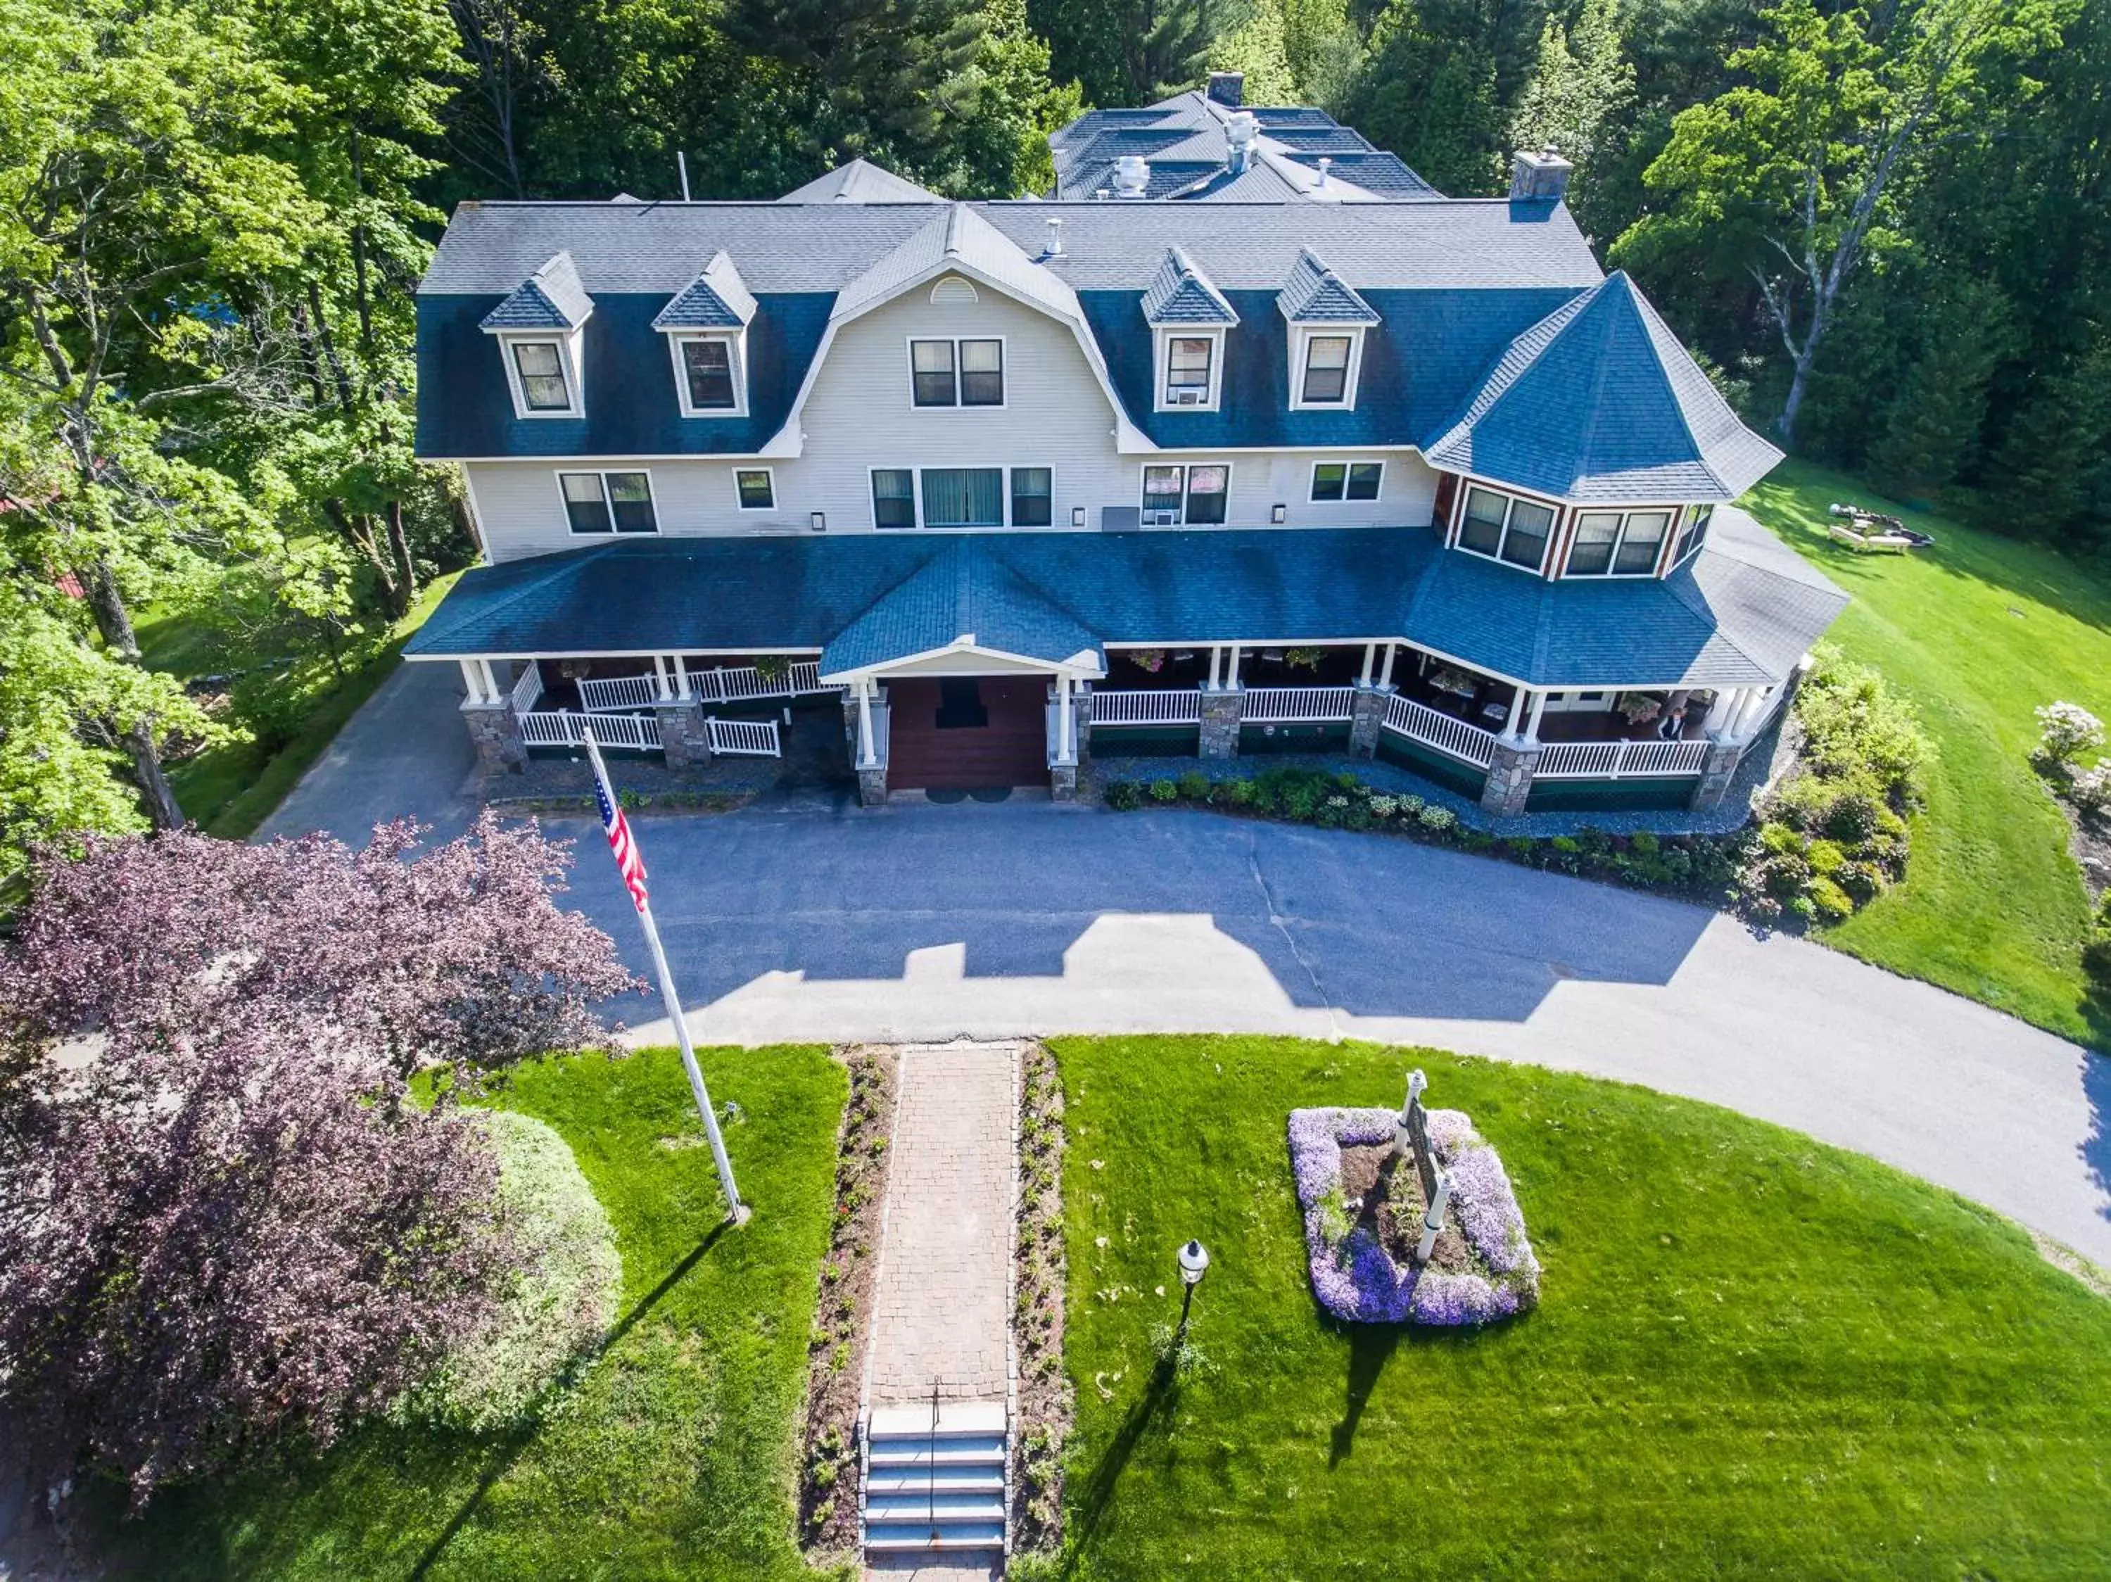
M 418 298 L 420 456 L 709 456 L 754 454 L 783 427 L 821 344 L 834 291 L 756 298 L 747 325 L 747 416 L 682 416 L 667 342 L 652 319 L 663 294 L 602 296 L 581 329 L 583 418 L 515 418 L 507 374 L 477 323 L 488 296 Z M 445 391 L 443 399 L 439 393 Z

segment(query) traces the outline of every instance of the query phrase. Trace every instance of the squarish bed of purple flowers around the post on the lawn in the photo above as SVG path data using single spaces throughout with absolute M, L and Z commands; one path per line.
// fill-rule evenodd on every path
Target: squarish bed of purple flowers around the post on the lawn
M 1539 1259 L 1495 1149 L 1457 1109 L 1431 1109 L 1429 1147 L 1450 1174 L 1446 1221 L 1457 1231 L 1427 1265 L 1395 1259 L 1378 1219 L 1343 1198 L 1343 1149 L 1389 1149 L 1389 1109 L 1290 1111 L 1290 1170 L 1305 1212 L 1313 1295 L 1353 1324 L 1486 1324 L 1539 1303 Z M 1414 1172 L 1402 1172 L 1408 1187 Z M 1402 1221 L 1419 1231 L 1419 1195 Z M 1395 1225 L 1395 1231 L 1400 1225 Z M 1450 1233 L 1450 1231 L 1448 1231 Z

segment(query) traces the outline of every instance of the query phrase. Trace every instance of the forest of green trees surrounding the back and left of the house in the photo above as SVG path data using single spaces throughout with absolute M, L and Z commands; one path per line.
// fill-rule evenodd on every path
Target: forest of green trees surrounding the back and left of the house
M 171 754 L 283 733 L 475 553 L 410 456 L 448 207 L 676 196 L 678 152 L 699 196 L 1037 192 L 1085 106 L 1226 68 L 1461 196 L 1554 144 L 1754 427 L 2111 560 L 2105 4 L 13 0 L 0 68 L 0 891 L 179 824 Z

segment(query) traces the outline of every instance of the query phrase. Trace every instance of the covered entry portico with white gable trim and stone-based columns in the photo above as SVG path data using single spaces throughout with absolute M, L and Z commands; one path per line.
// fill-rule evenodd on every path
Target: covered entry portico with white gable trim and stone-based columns
M 1098 646 L 1062 659 L 1007 653 L 965 632 L 944 648 L 828 670 L 870 807 L 897 790 L 1047 786 L 1077 794 L 1079 689 L 1106 674 Z

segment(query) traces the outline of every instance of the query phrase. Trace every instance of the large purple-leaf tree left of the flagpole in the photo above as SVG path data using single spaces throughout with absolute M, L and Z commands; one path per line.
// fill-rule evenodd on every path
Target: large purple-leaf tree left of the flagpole
M 87 1453 L 141 1506 L 327 1445 L 500 1288 L 490 1147 L 410 1077 L 606 1048 L 591 1005 L 638 984 L 532 826 L 414 841 L 40 866 L 0 957 L 0 1398 L 53 1476 Z

